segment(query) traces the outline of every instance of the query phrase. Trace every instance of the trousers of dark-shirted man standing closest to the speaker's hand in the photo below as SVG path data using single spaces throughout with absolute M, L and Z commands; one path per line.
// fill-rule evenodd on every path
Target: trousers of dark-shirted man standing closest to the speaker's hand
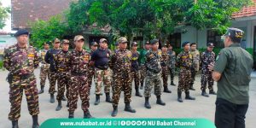
M 207 89 L 207 82 L 208 82 L 208 89 L 213 90 L 213 79 L 211 72 L 202 72 L 201 73 L 201 90 Z

